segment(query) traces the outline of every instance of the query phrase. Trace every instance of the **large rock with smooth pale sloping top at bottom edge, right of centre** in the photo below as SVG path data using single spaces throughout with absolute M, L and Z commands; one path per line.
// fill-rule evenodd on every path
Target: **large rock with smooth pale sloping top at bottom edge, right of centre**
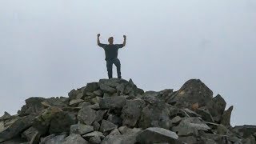
M 182 143 L 178 141 L 178 135 L 170 130 L 159 127 L 150 127 L 138 134 L 137 142 L 140 143 Z

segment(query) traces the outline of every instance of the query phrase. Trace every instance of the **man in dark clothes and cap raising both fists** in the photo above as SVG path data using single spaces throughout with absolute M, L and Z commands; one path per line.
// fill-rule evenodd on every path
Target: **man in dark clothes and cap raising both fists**
M 122 78 L 121 76 L 121 63 L 118 59 L 118 49 L 126 46 L 126 35 L 123 35 L 123 43 L 122 44 L 113 44 L 114 38 L 110 37 L 108 39 L 109 44 L 102 44 L 99 40 L 101 34 L 98 34 L 98 46 L 102 47 L 105 50 L 105 60 L 106 60 L 106 70 L 109 78 L 112 78 L 112 69 L 113 64 L 117 67 L 118 78 Z

